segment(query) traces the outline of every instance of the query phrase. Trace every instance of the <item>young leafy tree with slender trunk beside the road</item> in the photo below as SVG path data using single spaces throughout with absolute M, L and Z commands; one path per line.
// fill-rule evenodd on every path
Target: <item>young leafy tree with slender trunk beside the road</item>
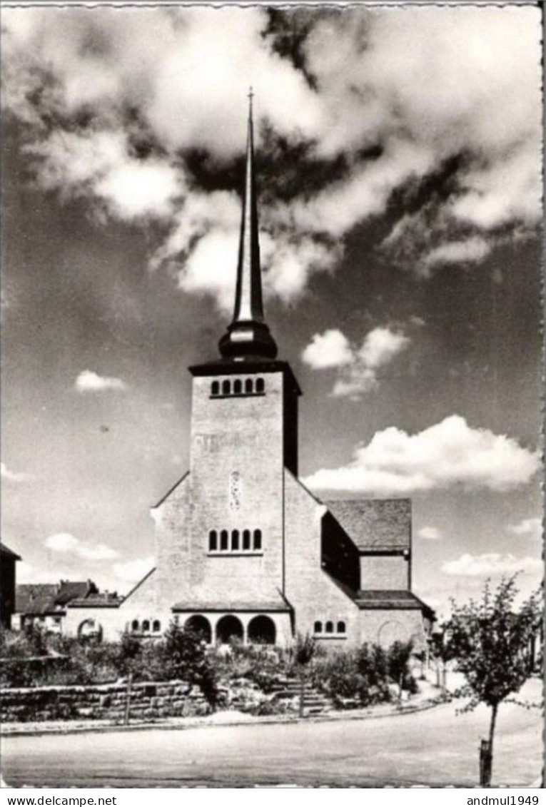
M 481 784 L 489 787 L 493 763 L 493 743 L 498 706 L 509 695 L 519 692 L 531 675 L 531 640 L 540 625 L 539 594 L 531 595 L 519 610 L 515 600 L 519 590 L 516 575 L 503 578 L 495 591 L 489 580 L 481 600 L 457 605 L 452 600 L 452 617 L 445 625 L 447 646 L 463 673 L 466 685 L 455 694 L 470 696 L 463 711 L 484 703 L 491 709 L 489 723 L 489 763 Z

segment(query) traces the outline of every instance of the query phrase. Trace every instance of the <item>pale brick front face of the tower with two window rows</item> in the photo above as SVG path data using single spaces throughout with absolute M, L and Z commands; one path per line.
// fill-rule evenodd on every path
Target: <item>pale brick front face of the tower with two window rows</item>
M 234 370 L 235 368 L 233 368 Z M 194 378 L 187 581 L 206 600 L 278 600 L 283 577 L 283 374 Z M 238 380 L 262 394 L 212 395 Z M 209 533 L 262 534 L 257 552 L 209 552 Z

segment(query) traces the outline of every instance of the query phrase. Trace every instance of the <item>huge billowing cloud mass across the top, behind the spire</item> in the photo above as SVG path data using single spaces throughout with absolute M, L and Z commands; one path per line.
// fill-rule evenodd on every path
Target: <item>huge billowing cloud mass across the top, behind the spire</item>
M 536 228 L 540 10 L 298 9 L 275 19 L 276 29 L 258 6 L 5 9 L 2 101 L 25 128 L 36 181 L 101 215 L 160 225 L 151 266 L 225 308 L 239 215 L 225 170 L 235 175 L 244 148 L 251 76 L 266 156 L 282 140 L 294 161 L 303 145 L 302 179 L 317 163 L 344 166 L 313 186 L 284 187 L 277 175 L 282 193 L 270 182 L 268 295 L 298 299 L 314 273 L 334 269 L 352 228 L 383 215 L 394 192 L 414 200 L 449 161 L 458 164 L 446 192 L 405 211 L 426 226 L 393 236 L 387 253 L 405 249 L 404 266 L 426 276 L 447 259 L 477 264 L 499 228 Z

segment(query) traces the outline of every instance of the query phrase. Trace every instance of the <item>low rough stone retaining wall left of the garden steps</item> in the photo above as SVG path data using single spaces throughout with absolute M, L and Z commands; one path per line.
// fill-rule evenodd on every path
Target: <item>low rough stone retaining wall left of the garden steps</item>
M 73 687 L 35 687 L 0 690 L 2 722 L 46 720 L 122 721 L 127 685 L 93 684 Z M 187 717 L 210 713 L 199 687 L 184 681 L 132 684 L 130 716 L 133 719 Z

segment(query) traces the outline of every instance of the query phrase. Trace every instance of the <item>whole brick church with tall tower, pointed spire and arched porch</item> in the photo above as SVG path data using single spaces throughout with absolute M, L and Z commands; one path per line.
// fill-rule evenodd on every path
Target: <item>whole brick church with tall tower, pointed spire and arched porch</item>
M 411 502 L 320 500 L 298 479 L 298 403 L 264 318 L 252 107 L 233 321 L 191 366 L 190 467 L 152 508 L 155 567 L 123 600 L 69 603 L 67 633 L 160 636 L 178 620 L 208 644 L 426 645 L 434 613 L 411 591 Z

